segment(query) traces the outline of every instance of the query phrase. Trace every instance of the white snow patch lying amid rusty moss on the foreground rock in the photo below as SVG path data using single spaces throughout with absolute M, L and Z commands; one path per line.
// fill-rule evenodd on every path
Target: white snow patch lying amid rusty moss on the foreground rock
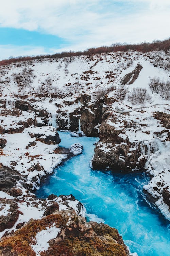
M 56 238 L 60 233 L 60 228 L 56 228 L 56 224 L 53 223 L 51 227 L 41 230 L 36 234 L 34 241 L 35 245 L 31 245 L 32 249 L 36 253 L 36 256 L 40 256 L 40 252 L 47 251 L 49 244 L 48 241 Z

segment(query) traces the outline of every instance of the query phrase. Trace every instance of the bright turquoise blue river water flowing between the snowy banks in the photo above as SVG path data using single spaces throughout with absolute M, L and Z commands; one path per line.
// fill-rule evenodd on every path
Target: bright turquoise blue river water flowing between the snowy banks
M 118 229 L 131 252 L 139 256 L 170 256 L 170 222 L 154 207 L 142 187 L 145 172 L 96 171 L 89 166 L 97 138 L 72 138 L 60 132 L 61 147 L 80 142 L 83 153 L 67 160 L 36 191 L 38 197 L 73 194 L 87 210 L 87 219 Z

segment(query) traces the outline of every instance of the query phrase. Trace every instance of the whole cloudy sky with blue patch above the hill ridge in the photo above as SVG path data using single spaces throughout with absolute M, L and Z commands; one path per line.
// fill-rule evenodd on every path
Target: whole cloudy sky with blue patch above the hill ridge
M 170 37 L 170 0 L 0 0 L 0 60 Z

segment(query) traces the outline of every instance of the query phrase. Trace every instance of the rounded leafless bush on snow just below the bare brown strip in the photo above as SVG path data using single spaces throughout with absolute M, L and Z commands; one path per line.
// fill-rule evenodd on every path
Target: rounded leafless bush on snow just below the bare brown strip
M 151 101 L 151 96 L 145 88 L 133 88 L 131 94 L 128 94 L 128 100 L 133 104 L 143 104 Z

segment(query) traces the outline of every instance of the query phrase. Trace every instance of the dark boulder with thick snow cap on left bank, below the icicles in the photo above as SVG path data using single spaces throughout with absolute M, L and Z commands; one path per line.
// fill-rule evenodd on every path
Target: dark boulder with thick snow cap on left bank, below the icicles
M 31 138 L 36 137 L 36 141 L 40 141 L 48 145 L 55 145 L 61 142 L 58 132 L 55 127 L 52 126 L 31 126 L 25 129 L 24 132 L 29 134 Z

